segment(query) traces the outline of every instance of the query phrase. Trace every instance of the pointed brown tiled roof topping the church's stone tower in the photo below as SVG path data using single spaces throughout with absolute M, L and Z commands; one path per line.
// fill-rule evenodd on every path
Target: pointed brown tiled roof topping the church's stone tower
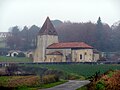
M 45 20 L 39 31 L 39 35 L 58 35 L 49 17 Z

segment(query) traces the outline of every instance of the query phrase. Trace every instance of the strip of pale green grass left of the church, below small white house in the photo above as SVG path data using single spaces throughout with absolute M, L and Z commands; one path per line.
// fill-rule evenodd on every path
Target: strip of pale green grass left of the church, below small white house
M 32 62 L 32 60 L 26 57 L 0 56 L 0 62 Z

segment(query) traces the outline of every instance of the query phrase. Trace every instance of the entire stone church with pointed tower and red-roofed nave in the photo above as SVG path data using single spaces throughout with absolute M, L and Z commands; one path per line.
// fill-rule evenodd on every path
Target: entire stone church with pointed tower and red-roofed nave
M 59 42 L 47 17 L 37 36 L 33 62 L 96 62 L 99 58 L 99 52 L 84 42 Z

